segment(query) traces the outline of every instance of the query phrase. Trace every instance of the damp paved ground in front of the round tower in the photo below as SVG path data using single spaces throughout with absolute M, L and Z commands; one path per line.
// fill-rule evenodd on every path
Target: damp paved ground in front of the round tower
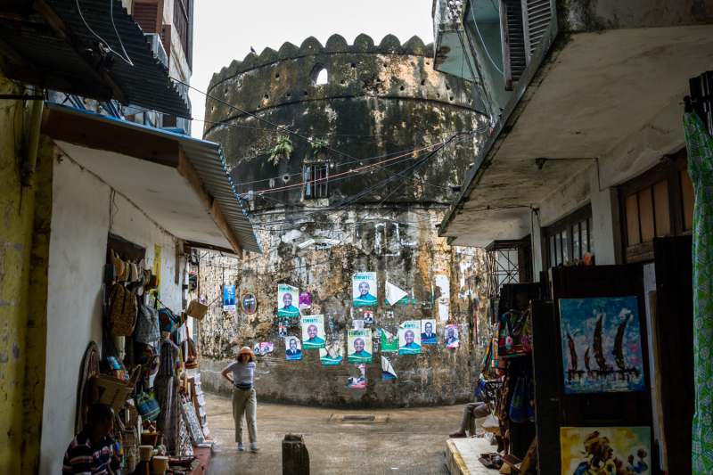
M 217 441 L 209 475 L 282 473 L 288 432 L 302 434 L 316 474 L 447 474 L 446 440 L 458 429 L 463 405 L 406 409 L 336 410 L 267 405 L 258 396 L 258 453 L 238 452 L 230 399 L 206 394 L 210 435 Z M 344 422 L 373 415 L 370 422 Z M 247 430 L 243 441 L 248 444 Z

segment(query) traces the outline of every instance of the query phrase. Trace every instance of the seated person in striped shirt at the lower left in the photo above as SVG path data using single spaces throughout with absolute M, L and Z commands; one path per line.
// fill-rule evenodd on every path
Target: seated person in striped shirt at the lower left
M 86 425 L 72 440 L 64 454 L 62 473 L 119 473 L 121 461 L 109 437 L 114 427 L 114 410 L 110 405 L 94 403 L 86 414 Z

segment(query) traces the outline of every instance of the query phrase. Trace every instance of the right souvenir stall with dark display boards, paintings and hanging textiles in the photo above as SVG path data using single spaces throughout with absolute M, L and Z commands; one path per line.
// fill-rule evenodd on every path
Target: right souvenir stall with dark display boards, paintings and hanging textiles
M 483 464 L 502 473 L 690 472 L 690 237 L 653 248 L 655 281 L 644 275 L 652 267 L 636 264 L 558 266 L 541 284 L 504 286 L 500 308 L 510 310 L 492 323 L 481 364 L 481 397 L 492 403 L 482 427 L 498 443 Z

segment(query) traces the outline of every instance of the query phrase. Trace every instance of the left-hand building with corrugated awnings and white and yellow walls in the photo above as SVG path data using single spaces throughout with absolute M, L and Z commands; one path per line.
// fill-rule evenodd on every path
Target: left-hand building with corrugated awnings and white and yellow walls
M 178 6 L 148 11 L 180 29 Z M 190 36 L 171 37 L 169 71 L 120 2 L 26 7 L 0 7 L 0 471 L 59 473 L 86 348 L 111 338 L 102 332 L 109 250 L 158 271 L 161 300 L 180 312 L 185 242 L 237 256 L 259 246 L 219 144 L 156 127 L 190 118 L 169 80 L 190 78 Z M 89 48 L 111 22 L 123 45 Z M 147 125 L 122 120 L 130 110 Z

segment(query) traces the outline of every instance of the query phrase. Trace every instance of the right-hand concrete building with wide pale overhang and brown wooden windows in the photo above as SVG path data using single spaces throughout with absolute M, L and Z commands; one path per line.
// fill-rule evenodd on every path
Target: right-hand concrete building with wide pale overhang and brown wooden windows
M 654 236 L 690 233 L 681 103 L 689 78 L 713 68 L 709 7 L 545 2 L 545 22 L 525 45 L 528 12 L 499 5 L 510 16 L 472 0 L 457 7 L 457 21 L 435 18 L 436 57 L 474 57 L 481 91 L 503 108 L 439 235 L 478 247 L 529 237 L 537 280 L 586 251 L 597 264 L 641 261 L 651 258 Z M 447 12 L 447 2 L 434 9 Z M 464 49 L 449 30 L 468 37 Z M 521 64 L 508 61 L 515 53 Z M 650 186 L 652 198 L 643 196 Z

